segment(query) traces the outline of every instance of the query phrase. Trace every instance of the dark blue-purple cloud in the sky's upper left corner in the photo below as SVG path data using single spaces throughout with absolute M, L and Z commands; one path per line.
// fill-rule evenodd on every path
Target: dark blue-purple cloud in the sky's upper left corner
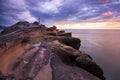
M 17 15 L 25 11 L 21 3 L 15 3 L 17 0 L 1 0 L 0 3 L 0 24 L 9 25 L 18 20 Z M 19 4 L 19 5 L 18 5 Z

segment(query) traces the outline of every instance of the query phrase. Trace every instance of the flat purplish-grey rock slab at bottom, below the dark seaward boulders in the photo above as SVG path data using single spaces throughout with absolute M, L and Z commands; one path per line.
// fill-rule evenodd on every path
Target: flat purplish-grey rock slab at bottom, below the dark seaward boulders
M 60 57 L 52 55 L 53 80 L 100 80 L 80 67 L 64 64 Z

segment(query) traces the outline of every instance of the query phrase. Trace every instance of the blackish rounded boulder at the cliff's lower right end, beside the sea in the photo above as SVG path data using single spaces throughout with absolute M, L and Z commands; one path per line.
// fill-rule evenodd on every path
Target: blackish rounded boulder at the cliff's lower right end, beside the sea
M 75 61 L 81 68 L 96 75 L 97 77 L 101 78 L 102 80 L 105 80 L 102 69 L 88 55 L 82 53 L 82 55 L 79 55 L 75 59 Z

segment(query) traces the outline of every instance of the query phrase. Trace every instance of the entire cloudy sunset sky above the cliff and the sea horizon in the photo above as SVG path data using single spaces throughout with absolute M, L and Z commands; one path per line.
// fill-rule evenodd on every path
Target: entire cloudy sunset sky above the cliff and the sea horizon
M 120 0 L 0 0 L 0 25 L 40 21 L 67 29 L 119 29 Z

